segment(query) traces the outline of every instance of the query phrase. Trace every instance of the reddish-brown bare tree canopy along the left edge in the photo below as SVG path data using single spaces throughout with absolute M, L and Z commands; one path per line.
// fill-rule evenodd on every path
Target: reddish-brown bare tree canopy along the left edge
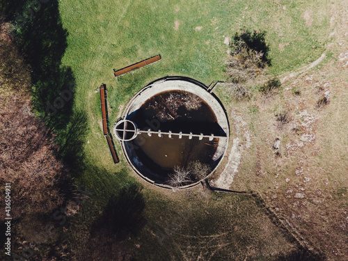
M 52 154 L 56 145 L 47 128 L 31 113 L 29 70 L 7 34 L 0 38 L 0 183 L 11 183 L 11 215 L 19 219 L 61 205 L 58 185 L 68 172 Z

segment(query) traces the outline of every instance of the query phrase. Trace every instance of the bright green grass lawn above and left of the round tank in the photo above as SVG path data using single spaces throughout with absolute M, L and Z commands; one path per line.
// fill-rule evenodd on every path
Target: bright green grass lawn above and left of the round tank
M 313 5 L 322 15 L 312 17 L 307 26 L 303 15 Z M 88 113 L 86 152 L 105 168 L 110 164 L 101 157 L 106 147 L 101 151 L 104 139 L 97 139 L 100 108 L 93 93 L 100 84 L 109 89 L 111 127 L 119 106 L 150 81 L 167 75 L 188 76 L 205 84 L 224 80 L 228 46 L 223 41 L 239 29 L 267 32 L 271 72 L 280 74 L 315 61 L 323 52 L 329 27 L 326 2 L 316 1 L 61 1 L 60 11 L 69 33 L 63 65 L 71 66 L 76 77 L 76 108 Z M 162 56 L 158 63 L 113 77 L 113 69 L 156 54 Z

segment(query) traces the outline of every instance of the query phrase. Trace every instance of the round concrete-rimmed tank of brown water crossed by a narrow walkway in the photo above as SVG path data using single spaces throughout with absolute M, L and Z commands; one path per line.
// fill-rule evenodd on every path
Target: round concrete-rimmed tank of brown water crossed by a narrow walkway
M 168 120 L 154 113 L 153 104 L 160 107 L 158 102 L 180 97 L 177 95 L 199 99 L 203 106 L 196 111 L 180 107 L 177 117 L 167 113 Z M 209 166 L 205 177 L 216 170 L 228 147 L 230 129 L 223 106 L 207 91 L 207 86 L 187 77 L 165 77 L 134 95 L 122 119 L 113 126 L 113 134 L 138 175 L 151 184 L 172 189 L 168 177 L 173 166 L 188 166 L 188 162 L 199 159 Z M 179 188 L 193 187 L 200 180 L 183 182 Z

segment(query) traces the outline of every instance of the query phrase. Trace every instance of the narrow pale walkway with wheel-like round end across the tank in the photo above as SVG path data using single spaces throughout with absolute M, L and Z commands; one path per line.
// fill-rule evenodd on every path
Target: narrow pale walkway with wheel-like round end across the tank
M 182 133 L 182 132 L 161 132 L 161 129 L 157 131 L 153 131 L 150 128 L 147 130 L 141 130 L 136 127 L 136 124 L 132 122 L 131 120 L 120 120 L 116 123 L 115 127 L 115 134 L 118 141 L 132 141 L 136 138 L 139 134 L 148 134 L 148 136 L 157 135 L 159 137 L 163 135 L 168 135 L 169 138 L 172 138 L 173 136 L 178 136 L 179 139 L 182 139 L 183 136 L 188 136 L 189 139 L 192 139 L 193 137 L 198 137 L 199 140 L 202 140 L 203 138 L 208 138 L 209 141 L 212 141 L 213 139 L 221 139 L 226 138 L 226 136 L 216 136 L 214 134 L 210 135 L 203 135 L 203 133 L 200 134 L 193 134 L 190 133 Z

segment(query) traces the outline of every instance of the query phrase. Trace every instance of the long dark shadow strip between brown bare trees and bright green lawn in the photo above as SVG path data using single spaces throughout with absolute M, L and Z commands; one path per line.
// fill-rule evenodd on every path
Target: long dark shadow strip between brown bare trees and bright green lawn
M 61 64 L 68 47 L 57 0 L 7 1 L 0 12 L 14 27 L 14 38 L 31 69 L 33 110 L 58 143 L 57 156 L 66 164 L 81 161 L 86 134 L 85 113 L 73 111 L 75 77 Z M 74 164 L 78 166 L 78 164 Z

